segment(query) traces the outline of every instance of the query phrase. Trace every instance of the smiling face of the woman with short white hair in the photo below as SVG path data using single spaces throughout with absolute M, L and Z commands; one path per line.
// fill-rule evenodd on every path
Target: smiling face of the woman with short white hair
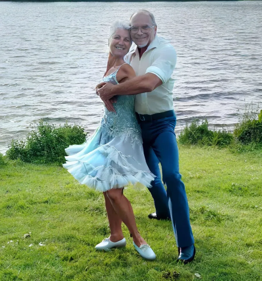
M 124 57 L 131 47 L 129 30 L 118 28 L 109 42 L 109 50 L 113 56 Z

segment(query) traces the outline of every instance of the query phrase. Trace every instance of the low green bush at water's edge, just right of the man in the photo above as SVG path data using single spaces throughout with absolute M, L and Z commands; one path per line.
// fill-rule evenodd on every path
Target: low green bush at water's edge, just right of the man
M 178 136 L 179 143 L 190 145 L 208 145 L 225 147 L 234 140 L 233 134 L 225 131 L 211 131 L 208 129 L 208 121 L 194 120 L 190 125 L 186 124 Z

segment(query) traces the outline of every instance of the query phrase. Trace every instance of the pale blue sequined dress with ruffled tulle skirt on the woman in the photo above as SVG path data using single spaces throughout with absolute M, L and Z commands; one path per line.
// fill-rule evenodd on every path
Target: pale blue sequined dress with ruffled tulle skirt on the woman
M 118 69 L 102 81 L 118 84 Z M 65 149 L 68 156 L 63 167 L 81 184 L 98 191 L 123 188 L 128 184 L 151 187 L 155 176 L 144 158 L 134 102 L 134 95 L 118 96 L 114 104 L 116 113 L 104 107 L 104 115 L 92 138 Z

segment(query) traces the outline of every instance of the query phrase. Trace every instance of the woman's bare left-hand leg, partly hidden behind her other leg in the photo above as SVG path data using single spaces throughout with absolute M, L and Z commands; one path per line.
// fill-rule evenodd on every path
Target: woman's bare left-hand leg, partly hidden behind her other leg
M 117 242 L 124 238 L 122 228 L 121 228 L 122 220 L 118 216 L 118 214 L 115 212 L 108 196 L 106 195 L 106 192 L 103 192 L 103 194 L 105 197 L 106 212 L 107 212 L 107 217 L 108 217 L 108 222 L 109 222 L 109 227 L 110 227 L 110 232 L 111 232 L 109 239 L 112 242 Z

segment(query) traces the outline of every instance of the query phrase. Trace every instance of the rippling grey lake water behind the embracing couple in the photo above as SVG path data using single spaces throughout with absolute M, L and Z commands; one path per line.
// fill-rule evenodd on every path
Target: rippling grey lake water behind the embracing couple
M 262 1 L 0 2 L 0 152 L 40 119 L 98 126 L 109 26 L 138 8 L 177 51 L 177 132 L 192 118 L 232 128 L 262 101 Z

